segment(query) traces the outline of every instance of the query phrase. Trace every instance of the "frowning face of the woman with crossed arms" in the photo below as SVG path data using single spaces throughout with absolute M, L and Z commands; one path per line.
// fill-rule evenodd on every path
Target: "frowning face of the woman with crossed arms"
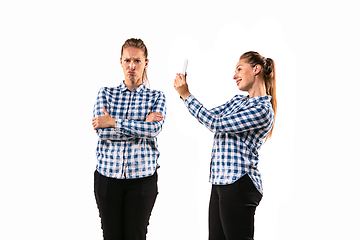
M 143 83 L 143 73 L 149 60 L 145 59 L 144 52 L 135 47 L 123 49 L 120 63 L 125 75 L 125 83 L 141 85 Z

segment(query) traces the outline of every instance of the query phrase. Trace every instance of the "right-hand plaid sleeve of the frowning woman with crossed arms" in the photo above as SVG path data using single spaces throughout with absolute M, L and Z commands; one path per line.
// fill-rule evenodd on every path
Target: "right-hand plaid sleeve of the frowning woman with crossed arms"
M 116 119 L 115 132 L 122 136 L 133 136 L 136 138 L 156 137 L 161 132 L 166 115 L 165 95 L 163 92 L 160 92 L 160 95 L 152 109 L 152 112 L 161 113 L 161 115 L 164 116 L 164 119 L 158 122 L 143 122 L 128 119 Z

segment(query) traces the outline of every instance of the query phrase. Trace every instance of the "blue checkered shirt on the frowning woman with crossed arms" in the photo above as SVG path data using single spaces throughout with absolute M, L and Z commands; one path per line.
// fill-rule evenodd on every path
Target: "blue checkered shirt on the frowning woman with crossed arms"
M 104 115 L 103 106 L 115 128 L 97 129 L 96 169 L 100 174 L 118 179 L 142 178 L 154 174 L 158 167 L 159 150 L 156 136 L 164 120 L 145 122 L 152 112 L 166 114 L 165 95 L 150 90 L 144 84 L 130 91 L 120 86 L 101 88 L 94 105 L 93 116 Z

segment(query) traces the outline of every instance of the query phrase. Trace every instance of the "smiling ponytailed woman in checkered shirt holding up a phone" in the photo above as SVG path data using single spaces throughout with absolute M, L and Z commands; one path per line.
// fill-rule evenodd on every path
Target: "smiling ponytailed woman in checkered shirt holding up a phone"
M 258 151 L 271 136 L 276 114 L 275 63 L 257 52 L 241 55 L 233 79 L 248 96 L 206 109 L 183 74 L 174 87 L 201 124 L 214 132 L 211 154 L 209 239 L 253 239 L 254 215 L 263 194 Z

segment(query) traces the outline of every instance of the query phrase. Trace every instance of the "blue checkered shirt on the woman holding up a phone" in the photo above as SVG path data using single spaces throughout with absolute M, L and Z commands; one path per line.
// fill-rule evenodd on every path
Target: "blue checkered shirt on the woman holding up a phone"
M 270 100 L 270 96 L 236 95 L 227 103 L 207 110 L 193 95 L 185 99 L 189 112 L 215 133 L 210 167 L 212 184 L 231 184 L 248 174 L 263 193 L 257 168 L 258 151 L 273 126 Z

